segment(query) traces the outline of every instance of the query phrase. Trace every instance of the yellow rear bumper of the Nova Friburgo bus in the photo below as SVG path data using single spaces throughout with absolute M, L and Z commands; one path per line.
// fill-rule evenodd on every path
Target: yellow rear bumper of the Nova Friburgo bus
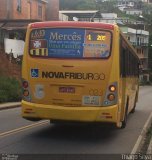
M 78 122 L 118 123 L 118 105 L 109 107 L 63 107 L 22 101 L 22 117 Z

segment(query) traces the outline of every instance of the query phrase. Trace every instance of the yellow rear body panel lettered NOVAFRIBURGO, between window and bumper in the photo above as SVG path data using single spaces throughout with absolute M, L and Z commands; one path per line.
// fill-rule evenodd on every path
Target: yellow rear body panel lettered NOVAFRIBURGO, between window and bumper
M 72 104 L 77 101 L 76 103 L 79 102 L 78 104 L 81 105 L 82 96 L 87 95 L 99 96 L 102 102 L 109 81 L 110 73 L 108 68 L 111 68 L 111 62 L 110 60 L 108 61 L 89 62 L 70 60 L 69 63 L 68 60 L 41 60 L 40 62 L 34 59 L 28 60 L 28 63 L 31 64 L 28 67 L 28 79 L 32 93 L 32 102 L 53 104 L 63 101 L 64 105 L 65 103 Z M 100 68 L 97 69 L 100 63 Z M 106 68 L 104 68 L 105 64 L 107 66 Z M 30 73 L 33 68 L 39 70 L 40 78 L 31 77 Z M 66 81 L 65 76 L 69 78 Z M 59 91 L 59 89 L 64 89 L 64 87 L 65 89 L 66 87 L 68 88 L 68 86 L 74 91 L 69 91 L 69 93 L 68 91 Z M 45 94 L 42 98 L 36 95 L 38 94 L 39 87 L 43 88 Z M 59 100 L 57 100 L 57 97 Z

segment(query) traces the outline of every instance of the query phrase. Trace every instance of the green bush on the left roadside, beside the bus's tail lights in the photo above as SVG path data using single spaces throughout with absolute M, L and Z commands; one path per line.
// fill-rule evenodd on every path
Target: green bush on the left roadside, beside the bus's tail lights
M 0 77 L 0 103 L 17 102 L 21 100 L 21 86 L 18 80 Z

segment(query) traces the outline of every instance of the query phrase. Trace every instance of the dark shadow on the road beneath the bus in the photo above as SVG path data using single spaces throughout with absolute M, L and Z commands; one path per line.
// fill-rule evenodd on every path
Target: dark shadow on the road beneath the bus
M 101 124 L 50 124 L 49 127 L 32 134 L 35 138 L 81 142 L 113 138 L 116 130 L 113 126 Z

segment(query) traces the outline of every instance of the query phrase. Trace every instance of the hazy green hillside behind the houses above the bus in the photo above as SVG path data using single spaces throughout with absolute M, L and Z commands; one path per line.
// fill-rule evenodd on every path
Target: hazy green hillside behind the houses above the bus
M 135 9 L 142 10 L 142 15 L 146 23 L 152 22 L 152 4 L 134 0 Z M 117 0 L 60 0 L 60 10 L 100 10 L 101 13 L 117 13 L 118 17 L 128 17 L 138 20 L 137 15 L 127 15 L 120 11 L 116 6 Z

